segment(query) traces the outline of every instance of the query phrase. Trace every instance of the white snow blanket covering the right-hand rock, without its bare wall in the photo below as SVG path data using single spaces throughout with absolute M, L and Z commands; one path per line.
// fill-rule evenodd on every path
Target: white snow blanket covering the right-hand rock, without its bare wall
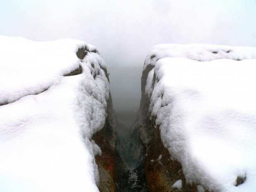
M 161 50 L 168 46 L 174 50 L 182 45 L 164 45 L 162 49 L 159 45 L 159 52 L 156 47 L 153 51 L 162 57 Z M 161 140 L 171 158 L 182 164 L 187 183 L 200 183 L 201 191 L 204 187 L 214 192 L 254 192 L 256 59 L 213 60 L 209 53 L 204 60 L 212 61 L 199 62 L 192 60 L 194 56 L 187 59 L 195 55 L 187 47 L 195 45 L 183 46 L 176 51 L 183 55 L 160 59 L 147 78 L 149 111 L 157 116 Z M 201 47 L 204 46 L 195 47 L 195 52 Z M 210 49 L 210 45 L 206 47 Z M 210 50 L 220 49 L 223 46 Z M 256 55 L 256 50 L 248 47 L 223 50 L 240 51 L 240 55 L 234 54 L 232 58 Z M 246 180 L 235 187 L 237 176 Z

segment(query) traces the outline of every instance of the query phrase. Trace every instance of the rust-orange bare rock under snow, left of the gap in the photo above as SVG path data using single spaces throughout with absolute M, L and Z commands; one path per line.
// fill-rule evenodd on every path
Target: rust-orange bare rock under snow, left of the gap
M 116 192 L 118 179 L 115 147 L 111 146 L 111 138 L 106 134 L 107 125 L 92 136 L 92 140 L 100 147 L 102 155 L 95 156 L 100 173 L 100 192 Z

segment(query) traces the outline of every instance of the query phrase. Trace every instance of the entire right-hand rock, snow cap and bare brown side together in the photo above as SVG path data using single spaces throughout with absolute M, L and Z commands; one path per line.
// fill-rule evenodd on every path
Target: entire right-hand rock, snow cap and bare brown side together
M 149 192 L 254 191 L 256 48 L 163 44 L 145 59 Z

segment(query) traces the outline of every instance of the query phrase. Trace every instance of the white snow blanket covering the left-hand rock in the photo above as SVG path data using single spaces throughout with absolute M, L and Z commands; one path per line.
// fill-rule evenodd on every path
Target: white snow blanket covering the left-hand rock
M 109 83 L 102 59 L 78 59 L 80 48 L 89 50 L 0 36 L 1 192 L 98 191 L 91 137 L 104 126 Z

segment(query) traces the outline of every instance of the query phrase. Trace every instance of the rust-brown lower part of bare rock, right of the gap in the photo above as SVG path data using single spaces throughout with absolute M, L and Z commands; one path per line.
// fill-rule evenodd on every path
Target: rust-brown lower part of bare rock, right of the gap
M 186 183 L 181 164 L 171 160 L 168 150 L 161 141 L 159 126 L 152 126 L 152 139 L 145 157 L 145 175 L 149 192 L 178 191 L 172 189 L 172 185 L 180 179 L 183 184 L 180 192 L 197 192 L 197 184 Z

